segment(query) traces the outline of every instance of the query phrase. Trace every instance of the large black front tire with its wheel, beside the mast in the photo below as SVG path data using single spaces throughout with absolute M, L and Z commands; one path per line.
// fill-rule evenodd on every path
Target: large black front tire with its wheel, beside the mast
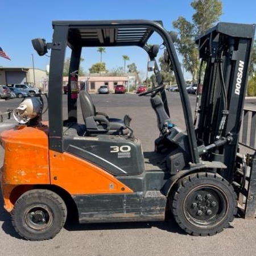
M 185 232 L 213 236 L 233 221 L 237 213 L 236 193 L 218 174 L 191 174 L 177 183 L 171 208 L 177 224 Z

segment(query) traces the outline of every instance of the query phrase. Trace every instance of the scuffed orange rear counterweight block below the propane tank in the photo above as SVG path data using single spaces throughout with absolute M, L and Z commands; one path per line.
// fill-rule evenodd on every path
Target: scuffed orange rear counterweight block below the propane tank
M 5 148 L 2 185 L 49 184 L 47 127 L 6 130 L 1 133 Z

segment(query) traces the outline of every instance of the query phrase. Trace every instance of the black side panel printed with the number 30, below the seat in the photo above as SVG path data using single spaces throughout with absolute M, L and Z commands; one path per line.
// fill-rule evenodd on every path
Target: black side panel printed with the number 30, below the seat
M 64 139 L 64 151 L 104 168 L 112 175 L 144 172 L 141 141 L 113 135 Z

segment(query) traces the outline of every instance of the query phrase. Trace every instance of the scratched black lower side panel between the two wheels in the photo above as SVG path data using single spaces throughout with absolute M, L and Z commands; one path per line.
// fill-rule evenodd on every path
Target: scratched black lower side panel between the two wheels
M 159 191 L 146 194 L 80 195 L 73 196 L 79 210 L 80 223 L 162 221 L 166 196 Z

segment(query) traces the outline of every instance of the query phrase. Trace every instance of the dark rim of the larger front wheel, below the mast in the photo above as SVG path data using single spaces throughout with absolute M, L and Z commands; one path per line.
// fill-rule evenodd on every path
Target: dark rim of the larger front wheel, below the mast
M 213 227 L 224 220 L 228 212 L 228 199 L 220 188 L 203 185 L 185 197 L 183 212 L 192 225 Z

